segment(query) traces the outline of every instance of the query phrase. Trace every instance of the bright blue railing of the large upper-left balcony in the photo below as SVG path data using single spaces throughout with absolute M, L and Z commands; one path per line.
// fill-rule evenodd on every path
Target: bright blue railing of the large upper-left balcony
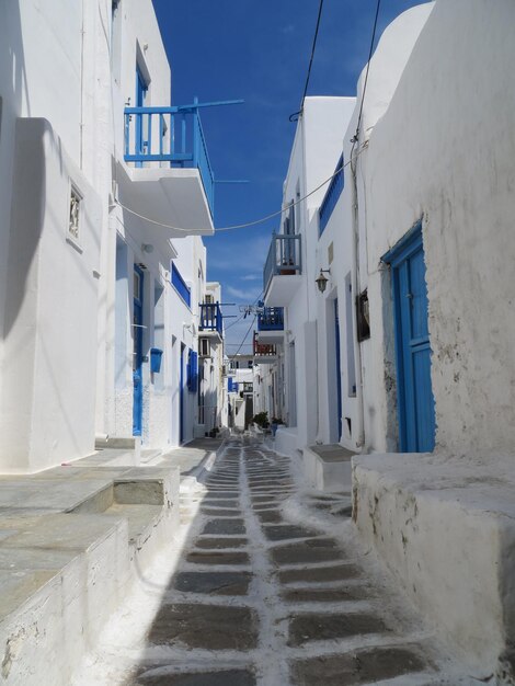
M 125 107 L 125 161 L 169 163 L 198 169 L 211 216 L 215 175 L 207 155 L 201 116 L 185 107 Z

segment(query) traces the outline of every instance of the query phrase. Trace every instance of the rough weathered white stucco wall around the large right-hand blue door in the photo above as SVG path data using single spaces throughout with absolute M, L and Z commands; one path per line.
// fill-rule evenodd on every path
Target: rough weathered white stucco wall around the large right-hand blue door
M 424 217 L 437 447 L 455 454 L 515 439 L 514 20 L 508 0 L 436 2 L 362 158 L 370 298 Z

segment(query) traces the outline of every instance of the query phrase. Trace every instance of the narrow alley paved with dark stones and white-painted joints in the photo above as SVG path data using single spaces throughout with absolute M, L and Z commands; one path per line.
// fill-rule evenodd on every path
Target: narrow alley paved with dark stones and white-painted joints
M 178 540 L 76 686 L 479 683 L 357 542 L 348 492 L 306 491 L 289 458 L 249 436 L 232 437 L 204 473 L 183 479 Z

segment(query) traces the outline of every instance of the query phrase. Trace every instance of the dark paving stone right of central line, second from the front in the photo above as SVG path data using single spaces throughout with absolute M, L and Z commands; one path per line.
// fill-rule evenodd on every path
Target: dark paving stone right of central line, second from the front
M 343 639 L 362 633 L 382 633 L 386 630 L 382 619 L 366 613 L 302 614 L 291 617 L 289 621 L 288 645 Z

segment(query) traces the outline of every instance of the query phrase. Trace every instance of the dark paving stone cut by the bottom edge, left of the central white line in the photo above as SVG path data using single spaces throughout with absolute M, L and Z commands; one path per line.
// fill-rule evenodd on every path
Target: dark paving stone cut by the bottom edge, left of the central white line
M 162 665 L 140 670 L 127 686 L 255 686 L 256 684 L 253 673 L 247 670 L 190 674 L 171 674 L 165 670 L 167 667 Z

